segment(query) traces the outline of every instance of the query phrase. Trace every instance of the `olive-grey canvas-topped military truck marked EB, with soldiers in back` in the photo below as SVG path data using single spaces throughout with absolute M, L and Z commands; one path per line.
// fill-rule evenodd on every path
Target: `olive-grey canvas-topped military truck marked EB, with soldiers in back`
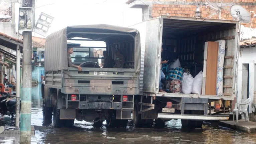
M 104 41 L 108 55 L 116 60 L 121 51 L 123 68 L 100 68 L 98 47 L 72 45 L 73 64 L 68 66 L 67 41 Z M 107 128 L 126 127 L 132 119 L 134 95 L 139 94 L 140 34 L 136 29 L 112 25 L 68 26 L 47 36 L 45 81 L 42 82 L 43 120 L 54 127 L 73 126 L 74 120 Z

